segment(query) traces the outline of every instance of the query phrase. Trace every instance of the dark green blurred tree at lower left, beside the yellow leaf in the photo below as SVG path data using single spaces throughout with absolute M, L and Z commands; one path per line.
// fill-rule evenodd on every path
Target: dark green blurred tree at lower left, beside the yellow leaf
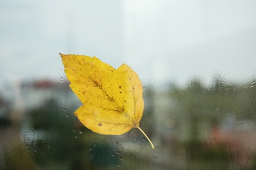
M 75 116 L 68 112 L 70 109 L 64 110 L 56 101 L 48 99 L 30 114 L 30 124 L 37 137 L 28 146 L 41 167 L 75 165 L 79 169 L 82 166 L 85 143 L 81 134 L 86 129 L 77 126 Z

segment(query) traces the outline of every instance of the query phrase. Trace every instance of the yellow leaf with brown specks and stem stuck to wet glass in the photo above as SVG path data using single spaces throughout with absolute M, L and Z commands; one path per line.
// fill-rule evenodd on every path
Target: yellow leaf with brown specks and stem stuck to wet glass
M 70 88 L 83 103 L 75 111 L 80 122 L 104 135 L 140 129 L 144 101 L 139 76 L 126 64 L 118 69 L 96 57 L 60 54 Z

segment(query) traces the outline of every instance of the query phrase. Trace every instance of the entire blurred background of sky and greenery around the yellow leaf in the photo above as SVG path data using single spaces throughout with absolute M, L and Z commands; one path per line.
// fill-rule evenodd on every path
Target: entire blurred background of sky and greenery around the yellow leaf
M 256 1 L 0 1 L 0 169 L 256 169 Z M 138 129 L 99 135 L 58 53 L 127 63 Z

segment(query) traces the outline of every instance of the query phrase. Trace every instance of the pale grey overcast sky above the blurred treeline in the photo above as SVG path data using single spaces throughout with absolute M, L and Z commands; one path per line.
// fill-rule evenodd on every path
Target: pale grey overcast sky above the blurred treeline
M 60 80 L 59 52 L 127 63 L 144 84 L 247 81 L 256 77 L 255 9 L 253 0 L 2 0 L 0 82 Z

